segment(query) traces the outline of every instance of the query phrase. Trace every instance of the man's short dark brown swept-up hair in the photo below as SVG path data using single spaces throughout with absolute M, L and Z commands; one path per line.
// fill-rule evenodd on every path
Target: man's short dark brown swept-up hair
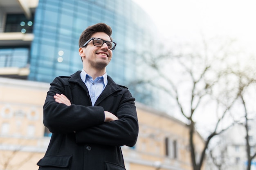
M 98 32 L 103 32 L 108 34 L 110 37 L 110 40 L 112 41 L 111 34 L 112 34 L 112 29 L 110 26 L 108 26 L 105 23 L 98 23 L 92 26 L 88 26 L 87 29 L 85 29 L 82 34 L 80 35 L 79 38 L 79 47 L 82 47 L 83 44 L 88 41 L 90 38 L 92 38 L 92 34 L 98 33 Z

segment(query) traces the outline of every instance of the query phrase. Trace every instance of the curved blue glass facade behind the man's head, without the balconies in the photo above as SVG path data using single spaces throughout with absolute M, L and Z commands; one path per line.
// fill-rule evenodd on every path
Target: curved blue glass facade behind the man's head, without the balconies
M 39 0 L 34 18 L 29 80 L 51 82 L 82 69 L 78 41 L 84 29 L 104 22 L 117 43 L 107 73 L 119 84 L 136 79 L 137 51 L 156 27 L 131 0 Z M 143 74 L 143 73 L 141 73 Z

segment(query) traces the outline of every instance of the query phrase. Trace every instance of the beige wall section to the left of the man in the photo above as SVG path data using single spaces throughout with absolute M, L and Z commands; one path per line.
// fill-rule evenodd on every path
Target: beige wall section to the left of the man
M 0 170 L 38 169 L 49 143 L 42 124 L 48 89 L 49 84 L 0 78 Z

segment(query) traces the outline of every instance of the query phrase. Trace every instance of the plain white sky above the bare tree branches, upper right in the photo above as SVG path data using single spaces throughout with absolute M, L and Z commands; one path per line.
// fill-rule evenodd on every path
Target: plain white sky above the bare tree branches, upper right
M 189 40 L 236 38 L 256 54 L 256 0 L 133 0 L 148 13 L 159 31 Z

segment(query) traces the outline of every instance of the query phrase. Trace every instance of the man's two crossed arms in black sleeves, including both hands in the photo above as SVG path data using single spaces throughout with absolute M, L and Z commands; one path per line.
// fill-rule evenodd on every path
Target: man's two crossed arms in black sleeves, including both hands
M 118 106 L 118 118 L 114 114 L 104 111 L 101 106 L 85 107 L 71 104 L 71 99 L 57 91 L 58 89 L 55 93 L 51 91 L 52 93 L 47 94 L 44 105 L 44 125 L 51 132 L 75 132 L 78 144 L 135 145 L 139 129 L 134 98 L 130 93 L 126 93 Z

